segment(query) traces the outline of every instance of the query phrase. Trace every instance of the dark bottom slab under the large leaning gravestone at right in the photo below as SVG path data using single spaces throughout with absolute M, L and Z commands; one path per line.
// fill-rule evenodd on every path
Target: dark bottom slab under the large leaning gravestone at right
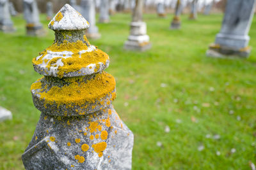
M 250 46 L 247 46 L 246 48 L 237 49 L 212 44 L 209 46 L 209 50 L 207 50 L 206 55 L 207 57 L 216 58 L 247 58 L 249 57 L 250 52 Z

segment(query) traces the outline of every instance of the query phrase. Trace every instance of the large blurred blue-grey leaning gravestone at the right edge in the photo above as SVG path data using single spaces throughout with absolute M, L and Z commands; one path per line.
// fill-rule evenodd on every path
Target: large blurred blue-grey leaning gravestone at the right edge
M 255 0 L 228 0 L 221 31 L 215 43 L 209 46 L 207 55 L 211 57 L 248 57 L 248 32 L 252 24 Z

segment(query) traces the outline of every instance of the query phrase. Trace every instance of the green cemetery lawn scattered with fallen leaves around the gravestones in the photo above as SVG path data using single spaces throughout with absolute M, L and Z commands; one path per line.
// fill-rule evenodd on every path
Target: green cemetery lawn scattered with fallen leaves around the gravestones
M 106 70 L 116 78 L 113 103 L 134 132 L 132 169 L 250 169 L 256 164 L 256 20 L 250 30 L 250 58 L 205 57 L 220 31 L 222 15 L 199 15 L 169 30 L 173 15 L 144 15 L 153 44 L 147 52 L 123 50 L 131 15 L 116 14 L 98 24 L 102 38 L 90 41 L 108 53 Z M 30 85 L 41 76 L 31 60 L 50 46 L 54 32 L 27 37 L 22 16 L 17 32 L 0 32 L 0 106 L 13 120 L 0 124 L 0 169 L 24 169 L 20 159 L 40 111 Z

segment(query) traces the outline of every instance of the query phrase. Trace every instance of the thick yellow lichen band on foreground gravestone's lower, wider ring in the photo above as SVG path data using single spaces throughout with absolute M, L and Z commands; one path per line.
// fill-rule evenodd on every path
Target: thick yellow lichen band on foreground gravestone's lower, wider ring
M 65 80 L 73 81 L 77 79 L 66 78 Z M 86 102 L 100 101 L 102 97 L 107 96 L 113 90 L 115 90 L 115 78 L 103 72 L 87 82 L 74 82 L 63 87 L 53 86 L 50 90 L 44 87 L 44 89 L 40 89 L 42 92 L 38 92 L 38 94 L 40 94 L 40 99 L 44 99 L 46 103 L 56 103 L 58 106 L 66 104 L 70 107 L 72 104 L 81 106 Z

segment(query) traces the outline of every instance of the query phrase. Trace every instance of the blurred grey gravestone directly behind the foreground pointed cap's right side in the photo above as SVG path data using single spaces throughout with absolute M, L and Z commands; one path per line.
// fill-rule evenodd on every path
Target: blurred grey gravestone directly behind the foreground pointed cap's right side
M 81 0 L 81 14 L 90 23 L 89 29 L 86 31 L 86 37 L 90 39 L 99 39 L 99 29 L 96 26 L 96 12 L 94 0 Z

